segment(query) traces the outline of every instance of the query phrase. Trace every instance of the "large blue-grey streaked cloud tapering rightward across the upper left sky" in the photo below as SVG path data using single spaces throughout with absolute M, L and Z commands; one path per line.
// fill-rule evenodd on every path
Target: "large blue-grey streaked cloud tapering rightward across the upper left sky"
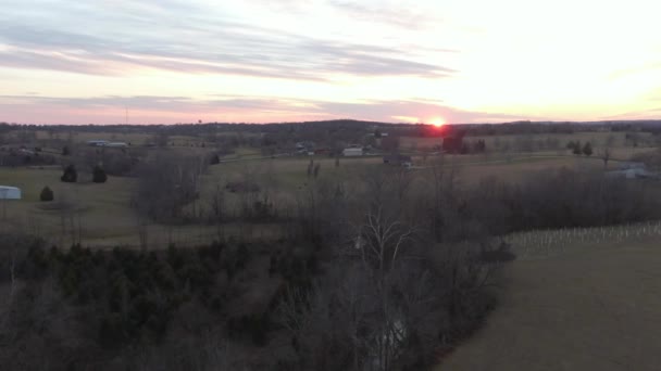
M 0 15 L 0 66 L 87 75 L 149 67 L 305 80 L 454 73 L 396 48 L 288 34 L 225 14 L 207 15 L 203 7 L 173 0 L 25 2 Z

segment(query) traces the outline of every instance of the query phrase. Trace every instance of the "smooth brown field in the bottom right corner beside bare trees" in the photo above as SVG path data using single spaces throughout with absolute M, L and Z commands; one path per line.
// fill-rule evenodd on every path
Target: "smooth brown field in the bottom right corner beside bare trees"
M 501 305 L 437 370 L 659 370 L 661 236 L 563 247 L 511 264 Z

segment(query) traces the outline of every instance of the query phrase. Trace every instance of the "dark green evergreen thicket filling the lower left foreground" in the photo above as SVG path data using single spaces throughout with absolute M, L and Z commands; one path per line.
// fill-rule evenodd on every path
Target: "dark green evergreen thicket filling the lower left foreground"
M 317 269 L 310 251 L 284 243 L 157 252 L 61 251 L 8 235 L 2 243 L 0 283 L 10 292 L 0 363 L 16 370 L 135 370 L 144 356 L 136 347 L 180 347 L 208 334 L 263 347 L 280 328 L 285 287 L 310 285 Z M 246 297 L 255 292 L 259 303 Z M 196 364 L 186 356 L 191 363 L 173 369 Z

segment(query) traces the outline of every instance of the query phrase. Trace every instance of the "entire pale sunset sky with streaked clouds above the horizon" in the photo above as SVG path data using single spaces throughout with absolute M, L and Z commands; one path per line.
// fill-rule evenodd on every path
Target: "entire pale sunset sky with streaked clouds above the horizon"
M 0 121 L 661 118 L 658 0 L 0 0 Z

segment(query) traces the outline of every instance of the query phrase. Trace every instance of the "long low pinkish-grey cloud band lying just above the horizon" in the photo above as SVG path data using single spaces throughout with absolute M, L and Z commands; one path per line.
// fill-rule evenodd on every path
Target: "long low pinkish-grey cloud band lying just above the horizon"
M 427 121 L 442 117 L 448 123 L 509 121 L 526 117 L 472 112 L 428 101 L 392 100 L 328 102 L 285 98 L 217 97 L 192 100 L 186 97 L 96 97 L 55 98 L 0 95 L 0 120 L 36 124 L 117 124 L 128 108 L 134 124 L 173 124 L 179 121 L 277 123 L 291 120 L 356 118 L 388 123 Z M 39 120 L 49 112 L 49 121 Z M 35 113 L 34 118 L 30 114 Z

